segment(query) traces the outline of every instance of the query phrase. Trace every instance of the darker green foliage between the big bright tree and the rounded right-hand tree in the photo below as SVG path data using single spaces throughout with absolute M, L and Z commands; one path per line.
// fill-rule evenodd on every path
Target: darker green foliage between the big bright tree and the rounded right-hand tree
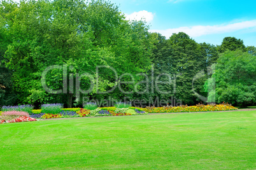
M 152 74 L 153 80 L 159 75 L 162 76 L 158 78 L 160 83 L 154 85 L 153 91 L 150 90 L 151 92 L 145 96 L 148 103 L 150 97 L 168 100 L 171 105 L 174 99 L 190 105 L 201 101 L 196 92 L 203 96 L 207 95 L 203 85 L 209 77 L 208 66 L 215 63 L 218 58 L 216 46 L 198 44 L 184 32 L 173 34 L 169 39 L 158 34 L 156 46 L 153 50 L 153 74 L 149 74 Z M 196 78 L 197 73 L 201 72 L 204 76 Z M 168 102 L 165 105 L 167 104 Z

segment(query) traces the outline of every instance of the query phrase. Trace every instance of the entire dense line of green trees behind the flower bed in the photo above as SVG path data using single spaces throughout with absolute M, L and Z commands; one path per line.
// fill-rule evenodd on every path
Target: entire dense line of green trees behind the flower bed
M 231 37 L 220 46 L 199 44 L 183 32 L 166 39 L 148 29 L 106 1 L 2 1 L 0 105 L 71 107 L 85 99 L 255 103 L 254 46 Z M 227 63 L 231 69 L 223 72 Z M 241 76 L 227 78 L 231 74 Z

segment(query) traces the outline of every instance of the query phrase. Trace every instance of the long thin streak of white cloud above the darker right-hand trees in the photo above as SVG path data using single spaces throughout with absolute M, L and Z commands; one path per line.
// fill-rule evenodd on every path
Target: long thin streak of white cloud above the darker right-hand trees
M 192 27 L 179 27 L 174 29 L 152 29 L 151 32 L 160 32 L 166 38 L 169 38 L 173 33 L 185 32 L 188 36 L 196 38 L 199 36 L 209 34 L 222 34 L 226 32 L 234 32 L 243 29 L 256 28 L 256 20 L 249 20 L 244 22 L 237 22 L 234 24 L 222 24 L 222 25 L 196 25 Z

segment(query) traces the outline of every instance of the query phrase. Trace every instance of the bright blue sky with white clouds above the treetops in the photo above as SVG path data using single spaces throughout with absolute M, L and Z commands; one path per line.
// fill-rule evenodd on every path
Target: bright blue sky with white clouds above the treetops
M 150 31 L 169 38 L 185 32 L 197 43 L 220 45 L 227 36 L 256 46 L 256 1 L 110 0 L 130 19 L 146 19 Z

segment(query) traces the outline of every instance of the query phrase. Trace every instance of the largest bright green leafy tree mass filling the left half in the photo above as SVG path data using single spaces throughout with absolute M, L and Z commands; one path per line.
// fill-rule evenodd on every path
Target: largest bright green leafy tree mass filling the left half
M 4 64 L 13 70 L 18 103 L 66 103 L 71 107 L 77 90 L 69 87 L 72 83 L 75 87 L 76 76 L 90 73 L 93 83 L 99 78 L 99 90 L 104 92 L 115 85 L 115 76 L 106 69 L 96 74 L 97 66 L 114 67 L 118 75 L 150 69 L 154 39 L 148 27 L 144 22 L 128 22 L 107 1 L 3 1 L 0 19 Z M 60 94 L 45 92 L 41 84 L 43 71 L 53 65 L 68 71 L 51 69 L 43 85 L 59 90 L 65 81 L 68 89 Z M 80 79 L 81 89 L 89 89 L 90 78 Z M 120 97 L 117 91 L 113 94 Z M 97 94 L 95 86 L 85 94 L 90 99 L 108 95 Z

